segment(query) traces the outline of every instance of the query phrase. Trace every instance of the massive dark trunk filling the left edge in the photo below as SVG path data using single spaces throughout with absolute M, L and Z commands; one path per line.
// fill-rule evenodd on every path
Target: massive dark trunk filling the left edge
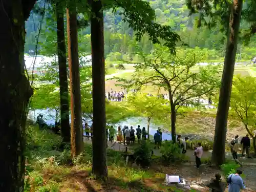
M 0 3 L 0 191 L 24 190 L 25 126 L 33 91 L 25 75 L 25 20 L 35 4 Z

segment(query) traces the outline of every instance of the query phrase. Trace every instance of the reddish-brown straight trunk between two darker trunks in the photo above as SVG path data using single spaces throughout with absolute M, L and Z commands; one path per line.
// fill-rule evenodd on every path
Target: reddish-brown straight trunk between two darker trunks
M 83 151 L 81 90 L 75 1 L 68 2 L 67 31 L 71 97 L 71 156 L 74 158 Z

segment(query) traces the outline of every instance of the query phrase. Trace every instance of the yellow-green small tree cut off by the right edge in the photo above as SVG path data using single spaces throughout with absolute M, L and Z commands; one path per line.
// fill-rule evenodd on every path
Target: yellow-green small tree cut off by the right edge
M 252 138 L 254 153 L 256 154 L 256 78 L 237 76 L 233 80 L 230 102 L 232 111 L 243 122 L 245 129 Z

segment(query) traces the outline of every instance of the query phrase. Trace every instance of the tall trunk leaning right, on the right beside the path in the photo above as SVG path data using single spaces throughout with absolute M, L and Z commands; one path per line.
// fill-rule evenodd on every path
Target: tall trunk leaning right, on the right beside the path
M 234 64 L 236 61 L 242 5 L 242 0 L 233 0 L 229 19 L 228 40 L 226 45 L 224 69 L 221 80 L 218 112 L 215 125 L 214 148 L 211 156 L 212 162 L 214 162 L 216 165 L 221 165 L 225 162 L 227 118 L 230 104 Z

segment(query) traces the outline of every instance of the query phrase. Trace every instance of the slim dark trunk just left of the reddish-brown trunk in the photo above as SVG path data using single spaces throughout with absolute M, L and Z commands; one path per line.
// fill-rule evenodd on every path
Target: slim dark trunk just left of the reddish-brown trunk
M 59 64 L 59 94 L 60 94 L 60 125 L 63 142 L 70 142 L 69 124 L 69 86 L 67 73 L 67 57 L 65 44 L 64 14 L 61 2 L 56 2 L 57 46 Z

